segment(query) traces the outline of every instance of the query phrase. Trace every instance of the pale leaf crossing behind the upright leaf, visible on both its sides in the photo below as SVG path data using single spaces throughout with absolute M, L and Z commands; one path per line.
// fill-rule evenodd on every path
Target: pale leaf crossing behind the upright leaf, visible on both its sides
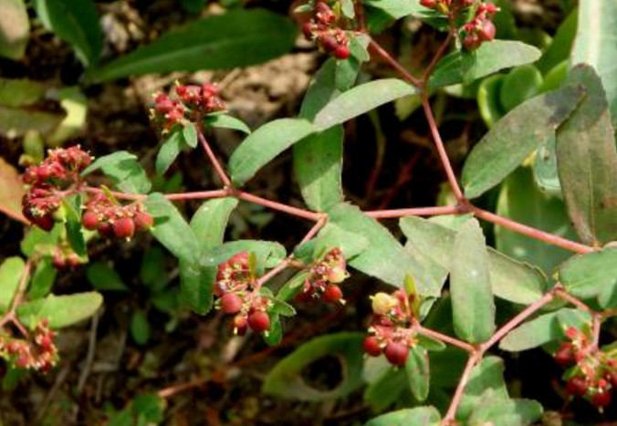
M 410 216 L 401 219 L 400 226 L 409 238 L 407 244 L 421 248 L 424 255 L 450 271 L 455 230 L 437 222 L 444 219 L 447 218 L 427 220 Z M 547 279 L 538 268 L 517 262 L 490 247 L 488 272 L 493 294 L 511 302 L 528 305 L 538 300 L 547 290 Z

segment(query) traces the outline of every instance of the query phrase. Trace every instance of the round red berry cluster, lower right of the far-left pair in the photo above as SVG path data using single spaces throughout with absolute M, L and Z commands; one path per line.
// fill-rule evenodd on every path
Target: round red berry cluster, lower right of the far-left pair
M 102 192 L 91 195 L 85 208 L 81 224 L 104 238 L 131 239 L 135 232 L 147 231 L 154 224 L 141 203 L 121 205 Z

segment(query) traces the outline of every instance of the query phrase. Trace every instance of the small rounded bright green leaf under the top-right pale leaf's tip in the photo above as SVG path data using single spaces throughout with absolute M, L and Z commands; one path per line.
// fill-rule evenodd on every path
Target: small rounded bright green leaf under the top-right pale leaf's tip
M 499 100 L 501 105 L 509 111 L 515 109 L 539 93 L 542 86 L 542 75 L 533 65 L 523 65 L 512 69 L 504 78 L 501 85 Z

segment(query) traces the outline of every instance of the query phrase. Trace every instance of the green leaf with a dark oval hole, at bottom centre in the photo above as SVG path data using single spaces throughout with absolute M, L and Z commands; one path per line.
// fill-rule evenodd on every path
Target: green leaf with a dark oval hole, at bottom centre
M 361 386 L 362 354 L 360 333 L 336 333 L 314 338 L 283 358 L 271 369 L 262 391 L 287 400 L 334 400 Z M 319 358 L 335 356 L 342 363 L 342 379 L 331 390 L 318 390 L 302 379 L 302 370 Z

